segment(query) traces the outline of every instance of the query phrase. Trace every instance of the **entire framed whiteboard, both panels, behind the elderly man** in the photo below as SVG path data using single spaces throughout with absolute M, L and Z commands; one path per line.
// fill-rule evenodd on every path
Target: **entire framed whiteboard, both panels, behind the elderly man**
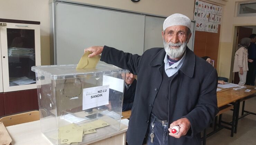
M 142 55 L 153 47 L 163 47 L 165 17 L 117 11 L 84 4 L 55 1 L 51 9 L 51 64 L 77 64 L 84 48 L 110 46 Z M 194 27 L 188 47 L 193 50 Z

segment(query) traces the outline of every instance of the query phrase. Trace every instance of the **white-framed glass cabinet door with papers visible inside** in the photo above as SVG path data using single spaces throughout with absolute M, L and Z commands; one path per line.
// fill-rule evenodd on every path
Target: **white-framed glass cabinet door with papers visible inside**
M 36 88 L 31 66 L 40 65 L 40 27 L 7 23 L 0 27 L 3 91 Z

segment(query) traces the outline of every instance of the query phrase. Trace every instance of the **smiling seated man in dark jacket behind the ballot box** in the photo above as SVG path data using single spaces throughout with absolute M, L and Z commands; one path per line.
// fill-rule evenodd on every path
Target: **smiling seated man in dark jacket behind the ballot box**
M 126 74 L 121 74 L 122 78 L 125 78 L 125 92 L 124 92 L 124 101 L 122 111 L 130 110 L 135 96 L 136 84 L 137 80 L 135 79 L 135 75 L 131 72 L 127 72 Z

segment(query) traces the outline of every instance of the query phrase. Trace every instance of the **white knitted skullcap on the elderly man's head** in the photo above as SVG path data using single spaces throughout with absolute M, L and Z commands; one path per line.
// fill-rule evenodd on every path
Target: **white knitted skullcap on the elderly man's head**
M 164 20 L 163 29 L 165 30 L 166 28 L 175 25 L 186 26 L 190 29 L 191 20 L 183 14 L 175 13 Z

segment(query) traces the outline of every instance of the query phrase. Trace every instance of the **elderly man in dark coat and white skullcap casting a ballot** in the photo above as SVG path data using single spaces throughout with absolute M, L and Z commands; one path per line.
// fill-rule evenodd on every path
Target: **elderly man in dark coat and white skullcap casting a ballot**
M 198 145 L 200 132 L 218 113 L 217 72 L 186 47 L 191 21 L 182 14 L 165 19 L 164 48 L 132 55 L 111 47 L 94 46 L 84 51 L 138 75 L 134 106 L 127 131 L 129 145 Z M 171 129 L 179 126 L 179 132 Z M 169 131 L 169 132 L 168 132 Z

